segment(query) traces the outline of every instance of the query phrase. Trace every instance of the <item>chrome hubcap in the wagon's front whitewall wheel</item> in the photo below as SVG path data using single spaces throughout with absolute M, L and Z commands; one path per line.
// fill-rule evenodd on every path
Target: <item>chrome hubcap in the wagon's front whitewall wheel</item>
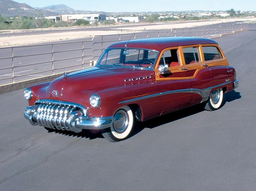
M 124 110 L 119 110 L 114 116 L 113 127 L 117 133 L 122 133 L 127 129 L 129 123 L 128 114 Z

